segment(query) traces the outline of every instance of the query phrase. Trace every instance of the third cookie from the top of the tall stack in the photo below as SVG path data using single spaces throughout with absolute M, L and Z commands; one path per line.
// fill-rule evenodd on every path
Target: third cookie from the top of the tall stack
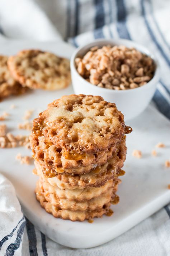
M 113 160 L 114 159 L 114 160 Z M 118 151 L 114 158 L 110 159 L 110 163 L 105 164 L 107 169 L 97 167 L 90 172 L 81 175 L 72 175 L 68 173 L 53 173 L 53 177 L 46 177 L 46 170 L 44 170 L 43 163 L 39 160 L 35 160 L 36 169 L 34 173 L 39 176 L 47 178 L 49 184 L 58 186 L 62 189 L 75 189 L 81 187 L 100 187 L 103 186 L 108 180 L 116 179 L 117 176 L 124 175 L 124 171 L 121 170 L 123 162 L 126 159 L 126 146 L 125 142 L 122 143 L 122 147 Z

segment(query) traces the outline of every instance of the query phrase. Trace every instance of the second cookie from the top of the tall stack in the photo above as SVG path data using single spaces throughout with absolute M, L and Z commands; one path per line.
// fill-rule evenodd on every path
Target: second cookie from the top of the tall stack
M 126 159 L 125 138 L 115 147 L 109 148 L 108 151 L 102 151 L 98 154 L 84 154 L 83 158 L 80 155 L 77 160 L 65 159 L 65 155 L 62 154 L 63 151 L 58 152 L 56 146 L 49 144 L 48 139 L 43 136 L 38 138 L 38 143 L 30 136 L 30 146 L 33 150 L 34 159 L 43 164 L 44 175 L 48 177 L 63 172 L 84 174 L 100 166 L 100 169 L 107 169 L 107 166 L 114 161 L 117 164 L 117 159 L 120 158 L 123 161 Z

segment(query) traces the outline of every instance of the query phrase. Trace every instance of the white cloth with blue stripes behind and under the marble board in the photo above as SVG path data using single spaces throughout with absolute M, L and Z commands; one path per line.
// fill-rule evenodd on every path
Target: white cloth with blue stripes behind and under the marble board
M 142 43 L 160 61 L 162 75 L 153 103 L 170 119 L 169 10 L 169 0 L 1 0 L 0 40 L 63 38 L 76 47 L 97 38 Z M 170 205 L 120 237 L 91 249 L 71 249 L 53 242 L 21 209 L 18 212 L 18 221 L 9 232 L 0 221 L 0 255 L 170 255 Z

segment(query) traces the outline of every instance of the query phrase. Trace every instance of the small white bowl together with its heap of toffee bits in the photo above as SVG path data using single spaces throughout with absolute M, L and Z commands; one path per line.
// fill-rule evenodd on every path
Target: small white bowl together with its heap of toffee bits
M 72 54 L 71 78 L 76 94 L 102 96 L 116 103 L 129 120 L 151 101 L 160 67 L 143 45 L 125 39 L 99 39 Z

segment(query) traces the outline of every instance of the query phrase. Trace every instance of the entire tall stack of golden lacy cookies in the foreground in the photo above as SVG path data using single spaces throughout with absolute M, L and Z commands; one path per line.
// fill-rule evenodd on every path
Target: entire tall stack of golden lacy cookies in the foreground
M 111 215 L 131 128 L 100 96 L 63 96 L 33 122 L 30 146 L 36 197 L 48 213 L 72 221 Z

